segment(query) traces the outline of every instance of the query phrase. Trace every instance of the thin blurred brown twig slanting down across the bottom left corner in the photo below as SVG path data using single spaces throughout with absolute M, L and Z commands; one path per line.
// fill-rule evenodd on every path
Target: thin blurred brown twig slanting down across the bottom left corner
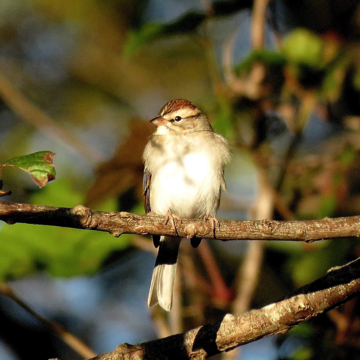
M 25 302 L 23 302 L 17 294 L 15 294 L 12 288 L 7 284 L 0 282 L 0 293 L 4 296 L 10 298 L 15 301 L 18 305 L 20 305 L 24 310 L 26 310 L 29 314 L 34 316 L 40 323 L 44 324 L 46 327 L 49 327 L 54 331 L 60 338 L 63 339 L 67 345 L 69 345 L 74 351 L 76 351 L 79 355 L 84 357 L 84 359 L 88 359 L 89 357 L 96 356 L 95 352 L 87 347 L 82 341 L 76 338 L 73 334 L 69 333 L 59 324 L 55 324 L 49 319 L 44 318 L 44 316 L 38 314 L 35 310 L 31 309 Z

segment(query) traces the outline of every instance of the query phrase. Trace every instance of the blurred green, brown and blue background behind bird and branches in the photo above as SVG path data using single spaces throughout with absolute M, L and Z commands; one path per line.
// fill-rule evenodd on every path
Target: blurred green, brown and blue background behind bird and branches
M 355 0 L 1 0 L 0 163 L 56 153 L 43 189 L 1 173 L 3 201 L 143 212 L 148 120 L 185 98 L 228 138 L 219 219 L 360 213 L 360 7 Z M 0 224 L 0 359 L 81 359 L 287 296 L 360 254 L 357 240 L 184 241 L 174 309 L 147 309 L 150 238 Z M 354 298 L 222 355 L 358 359 Z M 220 356 L 219 356 L 220 357 Z

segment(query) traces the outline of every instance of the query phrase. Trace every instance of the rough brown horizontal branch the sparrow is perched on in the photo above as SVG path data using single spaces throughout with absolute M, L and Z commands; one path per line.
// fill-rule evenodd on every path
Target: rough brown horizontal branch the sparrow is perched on
M 121 234 L 178 235 L 184 238 L 214 238 L 211 224 L 199 219 L 183 219 L 176 231 L 160 215 L 129 212 L 93 211 L 78 205 L 74 208 L 0 202 L 0 220 L 8 224 L 53 225 L 75 229 Z M 315 241 L 332 238 L 360 237 L 360 216 L 305 221 L 220 221 L 216 229 L 219 240 L 291 240 Z

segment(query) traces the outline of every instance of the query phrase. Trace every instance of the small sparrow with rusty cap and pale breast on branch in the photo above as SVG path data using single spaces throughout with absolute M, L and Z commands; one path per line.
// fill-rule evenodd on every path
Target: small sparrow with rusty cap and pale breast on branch
M 216 211 L 225 190 L 224 166 L 230 159 L 226 139 L 193 103 L 172 100 L 150 120 L 157 126 L 145 146 L 145 212 L 166 216 L 176 233 L 174 219 L 210 220 L 215 234 Z M 150 284 L 148 306 L 172 306 L 176 261 L 181 238 L 153 236 L 158 249 Z M 196 247 L 201 239 L 192 239 Z

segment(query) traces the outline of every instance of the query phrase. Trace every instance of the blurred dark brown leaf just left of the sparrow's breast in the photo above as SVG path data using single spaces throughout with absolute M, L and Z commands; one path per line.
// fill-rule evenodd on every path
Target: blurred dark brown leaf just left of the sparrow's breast
M 93 208 L 134 186 L 137 193 L 142 194 L 142 154 L 155 128 L 148 122 L 135 120 L 130 123 L 129 130 L 129 136 L 118 144 L 114 157 L 96 170 L 95 180 L 85 195 L 85 206 Z

